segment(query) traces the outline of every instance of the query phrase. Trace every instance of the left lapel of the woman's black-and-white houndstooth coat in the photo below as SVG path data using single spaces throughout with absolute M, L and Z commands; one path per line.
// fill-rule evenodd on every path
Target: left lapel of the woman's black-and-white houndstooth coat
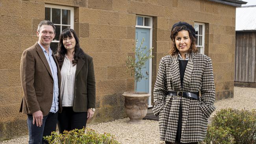
M 180 67 L 178 61 L 178 55 L 175 55 L 171 61 L 170 67 L 171 78 L 173 82 L 173 90 L 178 91 L 181 90 L 181 82 L 180 82 Z

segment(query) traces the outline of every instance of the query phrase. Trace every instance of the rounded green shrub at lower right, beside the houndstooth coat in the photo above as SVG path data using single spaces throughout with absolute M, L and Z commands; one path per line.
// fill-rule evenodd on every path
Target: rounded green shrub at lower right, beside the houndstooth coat
M 213 144 L 256 144 L 256 111 L 222 109 L 217 112 L 204 140 L 206 144 L 210 141 Z

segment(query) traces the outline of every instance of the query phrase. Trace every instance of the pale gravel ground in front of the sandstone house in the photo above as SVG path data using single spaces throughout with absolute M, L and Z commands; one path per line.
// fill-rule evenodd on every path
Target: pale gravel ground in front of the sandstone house
M 216 111 L 224 108 L 256 109 L 256 88 L 234 87 L 234 98 L 214 103 Z M 216 112 L 215 111 L 215 112 Z M 215 114 L 215 112 L 213 114 Z M 212 116 L 213 116 L 212 114 Z M 121 144 L 164 144 L 159 140 L 158 121 L 143 120 L 142 124 L 128 124 L 129 118 L 89 125 L 99 133 L 111 133 Z M 27 144 L 28 136 L 0 142 L 0 144 Z

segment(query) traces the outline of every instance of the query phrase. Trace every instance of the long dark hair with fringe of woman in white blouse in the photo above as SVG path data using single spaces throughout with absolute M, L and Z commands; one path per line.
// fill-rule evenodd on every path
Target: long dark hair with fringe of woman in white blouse
M 65 39 L 67 37 L 72 37 L 71 33 L 73 34 L 73 36 L 76 40 L 76 45 L 75 45 L 75 50 L 74 50 L 74 59 L 72 60 L 72 64 L 76 65 L 76 63 L 78 62 L 78 58 L 84 57 L 84 52 L 80 48 L 79 40 L 76 35 L 76 32 L 70 28 L 66 28 L 65 30 L 63 30 L 61 32 L 61 34 L 59 36 L 59 45 L 58 45 L 58 50 L 57 50 L 57 54 L 56 54 L 56 58 L 57 58 L 59 67 L 62 66 L 64 58 L 65 58 L 65 54 L 67 54 L 67 49 L 64 47 L 63 39 Z

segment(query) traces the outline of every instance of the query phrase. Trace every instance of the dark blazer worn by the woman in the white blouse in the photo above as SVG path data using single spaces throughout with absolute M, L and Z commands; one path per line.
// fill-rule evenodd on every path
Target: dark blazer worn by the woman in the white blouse
M 74 112 L 87 112 L 88 108 L 95 108 L 96 88 L 93 57 L 87 54 L 83 58 L 78 58 L 74 88 Z

